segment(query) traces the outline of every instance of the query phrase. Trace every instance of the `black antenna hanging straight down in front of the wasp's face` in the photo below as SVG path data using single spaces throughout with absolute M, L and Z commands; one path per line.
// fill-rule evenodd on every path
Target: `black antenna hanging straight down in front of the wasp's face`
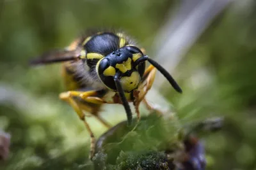
M 131 111 L 131 108 L 129 106 L 129 103 L 128 103 L 127 99 L 125 98 L 124 90 L 123 90 L 122 85 L 120 83 L 120 74 L 121 74 L 120 71 L 118 71 L 115 74 L 114 81 L 115 81 L 115 85 L 116 85 L 116 90 L 118 91 L 120 99 L 121 99 L 121 101 L 124 105 L 124 109 L 125 109 L 125 112 L 126 112 L 126 115 L 127 115 L 128 125 L 131 125 L 132 124 L 132 111 Z

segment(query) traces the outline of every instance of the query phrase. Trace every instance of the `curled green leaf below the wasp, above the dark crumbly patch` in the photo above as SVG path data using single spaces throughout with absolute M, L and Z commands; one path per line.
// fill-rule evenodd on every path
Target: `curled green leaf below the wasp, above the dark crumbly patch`
M 143 118 L 136 129 L 127 127 L 127 122 L 118 124 L 112 130 L 99 138 L 97 142 L 98 152 L 106 153 L 109 164 L 116 164 L 121 155 L 128 152 L 145 152 L 147 150 L 166 150 L 168 145 L 178 142 L 179 126 L 174 126 L 173 120 L 163 120 L 152 114 Z M 177 123 L 177 122 L 176 122 Z M 109 156 L 110 155 L 110 156 Z M 139 154 L 138 154 L 139 155 Z

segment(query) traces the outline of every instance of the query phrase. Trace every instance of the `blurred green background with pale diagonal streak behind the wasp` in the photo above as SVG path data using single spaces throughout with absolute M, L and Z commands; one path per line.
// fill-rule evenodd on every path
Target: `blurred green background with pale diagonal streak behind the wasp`
M 207 169 L 256 169 L 256 3 L 223 2 L 1 0 L 0 129 L 12 143 L 0 169 L 86 167 L 88 134 L 58 99 L 60 65 L 28 60 L 67 46 L 84 29 L 109 27 L 136 38 L 184 90 L 177 94 L 159 74 L 150 102 L 171 104 L 182 124 L 226 118 L 222 131 L 204 138 Z M 106 106 L 102 116 L 112 125 L 125 120 L 122 106 Z M 88 122 L 97 137 L 106 131 Z

